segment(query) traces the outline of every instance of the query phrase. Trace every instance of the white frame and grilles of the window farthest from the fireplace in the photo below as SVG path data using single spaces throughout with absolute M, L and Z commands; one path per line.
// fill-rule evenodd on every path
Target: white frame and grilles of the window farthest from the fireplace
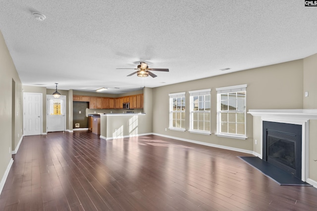
M 177 93 L 170 93 L 169 95 L 169 127 L 168 129 L 171 130 L 177 130 L 177 131 L 185 131 L 185 108 L 186 108 L 186 102 L 185 102 L 185 93 L 186 92 L 177 92 Z M 179 106 L 181 110 L 173 110 L 173 99 L 175 98 L 183 98 L 183 101 L 176 102 L 180 103 Z M 184 108 L 184 109 L 183 109 Z M 173 127 L 173 114 L 176 114 L 176 116 L 180 117 L 180 123 L 182 123 L 182 116 L 184 117 L 183 125 L 181 124 L 181 127 Z

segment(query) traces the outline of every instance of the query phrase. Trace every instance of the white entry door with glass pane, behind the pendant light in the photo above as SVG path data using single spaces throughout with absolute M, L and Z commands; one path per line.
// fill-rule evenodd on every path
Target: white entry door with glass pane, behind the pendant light
M 66 129 L 66 96 L 54 98 L 53 95 L 47 97 L 47 127 L 48 132 L 65 131 Z

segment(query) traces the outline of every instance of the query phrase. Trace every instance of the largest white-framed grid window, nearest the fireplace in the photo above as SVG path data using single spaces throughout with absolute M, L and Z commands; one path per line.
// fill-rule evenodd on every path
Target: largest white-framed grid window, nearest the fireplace
M 217 135 L 246 139 L 247 84 L 216 88 Z

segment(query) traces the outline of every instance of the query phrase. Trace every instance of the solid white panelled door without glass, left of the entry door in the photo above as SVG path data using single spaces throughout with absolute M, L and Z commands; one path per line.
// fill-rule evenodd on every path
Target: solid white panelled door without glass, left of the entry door
M 42 93 L 23 93 L 24 135 L 41 135 Z

